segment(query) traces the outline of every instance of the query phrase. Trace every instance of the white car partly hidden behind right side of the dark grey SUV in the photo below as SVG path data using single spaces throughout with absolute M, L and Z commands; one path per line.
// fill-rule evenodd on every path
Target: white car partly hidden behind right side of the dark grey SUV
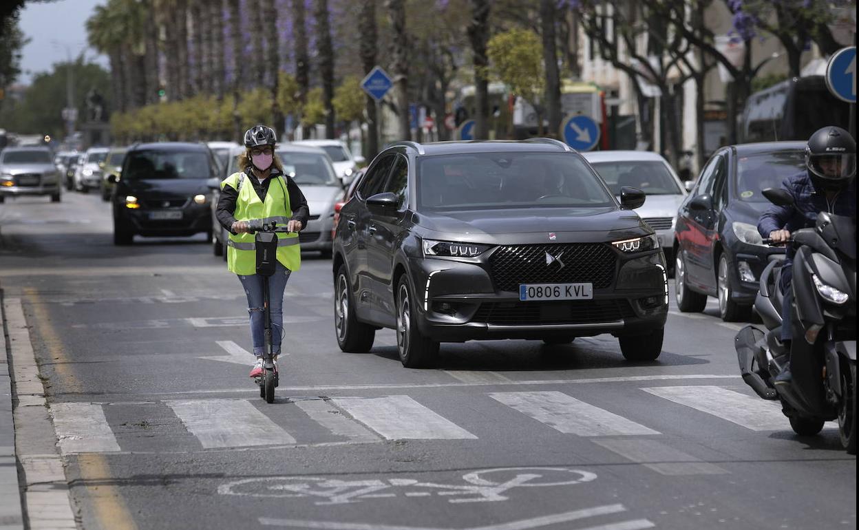
M 647 195 L 636 213 L 655 230 L 666 262 L 673 264 L 674 224 L 687 192 L 668 161 L 649 151 L 592 151 L 582 156 L 616 196 L 623 186 L 638 188 Z

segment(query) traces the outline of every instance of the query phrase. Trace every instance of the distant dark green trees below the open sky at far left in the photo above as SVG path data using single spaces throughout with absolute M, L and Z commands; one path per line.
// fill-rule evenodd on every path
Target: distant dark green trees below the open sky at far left
M 86 108 L 84 101 L 90 88 L 95 88 L 106 100 L 109 99 L 110 74 L 100 65 L 83 63 L 82 58 L 73 63 L 54 64 L 52 72 L 34 77 L 33 84 L 27 88 L 21 101 L 6 101 L 0 108 L 0 123 L 3 128 L 23 134 L 64 136 L 61 113 L 67 105 L 66 79 L 69 70 L 75 79 L 73 104 L 79 110 L 79 119 L 83 119 Z M 107 108 L 110 108 L 109 101 Z

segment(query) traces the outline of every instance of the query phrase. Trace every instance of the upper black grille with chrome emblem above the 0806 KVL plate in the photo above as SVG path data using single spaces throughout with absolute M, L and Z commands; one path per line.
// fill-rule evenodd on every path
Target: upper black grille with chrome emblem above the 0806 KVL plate
M 546 265 L 545 254 L 560 258 Z M 617 256 L 603 243 L 510 245 L 498 247 L 489 261 L 496 288 L 518 291 L 520 283 L 593 283 L 594 289 L 612 285 Z

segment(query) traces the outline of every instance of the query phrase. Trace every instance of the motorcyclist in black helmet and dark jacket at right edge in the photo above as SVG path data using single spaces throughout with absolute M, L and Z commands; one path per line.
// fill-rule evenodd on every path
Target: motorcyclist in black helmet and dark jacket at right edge
M 817 214 L 828 211 L 839 216 L 856 218 L 856 141 L 840 127 L 828 126 L 808 138 L 806 171 L 785 179 L 782 187 L 794 198 L 790 206 L 771 205 L 758 221 L 758 232 L 773 243 L 786 243 L 800 228 L 814 226 Z M 779 289 L 783 294 L 781 340 L 790 351 L 793 338 L 791 305 L 793 302 L 794 250 L 788 247 L 782 266 Z M 776 377 L 776 384 L 792 380 L 790 364 L 785 363 Z

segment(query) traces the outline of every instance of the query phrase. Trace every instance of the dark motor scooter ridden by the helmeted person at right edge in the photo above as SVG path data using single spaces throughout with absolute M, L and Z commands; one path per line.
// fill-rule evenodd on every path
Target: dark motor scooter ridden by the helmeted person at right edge
M 783 190 L 766 189 L 764 196 L 793 204 Z M 782 314 L 781 263 L 773 261 L 754 303 L 766 331 L 746 326 L 734 338 L 740 374 L 758 396 L 781 402 L 800 436 L 816 435 L 837 419 L 844 449 L 856 454 L 856 221 L 820 212 L 815 227 L 796 230 L 788 244 L 796 249 L 792 308 Z M 792 321 L 790 351 L 779 339 L 786 319 Z M 788 360 L 793 381 L 775 384 Z

